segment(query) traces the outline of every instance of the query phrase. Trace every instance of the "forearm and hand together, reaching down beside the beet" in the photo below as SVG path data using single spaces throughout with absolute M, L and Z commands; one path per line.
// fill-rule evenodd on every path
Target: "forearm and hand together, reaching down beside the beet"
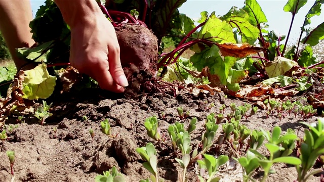
M 124 92 L 128 81 L 120 64 L 116 32 L 95 0 L 54 0 L 71 29 L 70 63 L 103 89 Z

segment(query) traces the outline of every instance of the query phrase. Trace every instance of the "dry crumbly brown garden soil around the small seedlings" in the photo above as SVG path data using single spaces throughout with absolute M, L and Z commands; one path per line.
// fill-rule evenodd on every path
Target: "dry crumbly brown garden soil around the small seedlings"
M 215 107 L 210 111 L 205 109 L 206 100 L 215 103 Z M 48 100 L 48 104 L 50 102 L 53 102 L 51 111 L 53 116 L 48 118 L 43 126 L 36 118 L 28 118 L 25 123 L 19 123 L 17 128 L 9 132 L 8 140 L 0 143 L 2 159 L 0 160 L 0 181 L 12 180 L 10 162 L 6 156 L 7 150 L 16 152 L 14 181 L 94 181 L 96 175 L 102 174 L 112 166 L 116 166 L 123 172 L 127 181 L 139 181 L 150 174 L 142 166 L 143 161 L 135 149 L 149 142 L 152 142 L 157 149 L 159 176 L 166 181 L 180 181 L 183 170 L 175 161 L 173 151 L 148 137 L 143 124 L 145 118 L 158 116 L 161 135 L 167 137 L 168 143 L 169 124 L 181 121 L 186 127 L 190 118 L 196 117 L 197 128 L 191 135 L 193 148 L 195 148 L 201 139 L 204 131 L 203 124 L 209 113 L 219 113 L 222 104 L 226 106 L 230 103 L 244 104 L 237 99 L 225 99 L 223 93 L 199 97 L 180 93 L 176 98 L 154 94 L 138 99 L 126 99 L 122 95 L 97 89 L 55 96 Z M 179 106 L 182 106 L 185 111 L 190 111 L 188 118 L 180 120 L 177 114 Z M 229 110 L 227 107 L 225 113 Z M 161 118 L 162 111 L 166 112 L 165 118 Z M 87 116 L 88 119 L 83 120 L 83 116 Z M 106 118 L 111 124 L 112 134 L 117 134 L 116 138 L 110 138 L 101 132 L 100 121 Z M 316 117 L 312 117 L 307 122 L 316 120 Z M 293 115 L 281 121 L 276 116 L 266 118 L 265 111 L 259 109 L 247 121 L 242 119 L 241 123 L 250 129 L 262 128 L 270 132 L 274 126 L 280 126 L 282 131 L 293 128 L 298 130 L 298 136 L 301 137 L 305 128 L 298 121 L 300 116 L 295 118 Z M 15 122 L 16 118 L 11 118 L 6 124 L 15 124 Z M 56 134 L 53 132 L 54 127 L 57 127 Z M 90 128 L 95 132 L 94 141 L 89 133 Z M 221 131 L 219 127 L 215 139 Z M 214 145 L 208 153 L 230 155 L 229 151 L 224 146 L 216 154 Z M 261 152 L 265 152 L 264 148 L 261 148 Z M 296 155 L 296 150 L 293 155 Z M 294 166 L 275 164 L 272 169 L 275 173 L 270 174 L 267 181 L 293 181 L 297 177 Z M 198 181 L 196 173 L 197 165 L 189 168 L 188 181 Z M 260 179 L 262 174 L 260 169 L 253 177 Z M 217 175 L 222 178 L 221 181 L 242 181 L 242 168 L 230 159 L 220 167 Z M 311 176 L 309 181 L 319 181 L 319 177 Z

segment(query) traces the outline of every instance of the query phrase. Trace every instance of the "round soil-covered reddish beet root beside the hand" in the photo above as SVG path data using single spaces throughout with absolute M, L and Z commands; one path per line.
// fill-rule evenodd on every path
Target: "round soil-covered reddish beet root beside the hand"
M 157 38 L 148 28 L 137 24 L 126 24 L 116 28 L 116 35 L 120 47 L 121 66 L 129 67 L 130 64 L 134 64 L 140 69 L 146 69 L 149 68 L 150 63 L 157 61 Z

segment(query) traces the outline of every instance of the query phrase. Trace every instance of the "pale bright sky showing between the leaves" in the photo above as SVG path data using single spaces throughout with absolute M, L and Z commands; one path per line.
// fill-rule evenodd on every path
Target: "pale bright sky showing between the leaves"
M 31 6 L 33 15 L 35 15 L 39 6 L 44 4 L 44 0 L 31 0 Z M 207 11 L 210 14 L 215 11 L 216 15 L 225 15 L 231 7 L 235 6 L 237 8 L 244 7 L 244 0 L 241 1 L 220 1 L 220 0 L 187 0 L 180 8 L 180 13 L 186 14 L 190 18 L 199 18 L 200 12 Z M 257 0 L 260 4 L 262 11 L 267 17 L 269 30 L 275 30 L 280 34 L 287 35 L 292 19 L 292 14 L 284 12 L 284 6 L 287 4 L 288 0 Z M 297 40 L 300 34 L 300 27 L 302 26 L 305 15 L 309 11 L 310 7 L 314 4 L 313 1 L 308 1 L 304 7 L 302 7 L 298 14 L 295 16 L 293 28 L 290 35 L 290 40 Z M 324 9 L 324 6 L 322 6 Z M 311 18 L 311 25 L 308 27 L 316 27 L 320 23 L 324 22 L 323 13 L 319 16 Z

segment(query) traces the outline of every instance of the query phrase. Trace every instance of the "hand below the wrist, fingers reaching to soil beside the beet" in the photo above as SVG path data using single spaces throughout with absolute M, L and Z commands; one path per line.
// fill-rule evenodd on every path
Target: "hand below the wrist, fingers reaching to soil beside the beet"
M 70 63 L 102 89 L 123 93 L 128 86 L 115 29 L 102 13 L 71 27 Z

